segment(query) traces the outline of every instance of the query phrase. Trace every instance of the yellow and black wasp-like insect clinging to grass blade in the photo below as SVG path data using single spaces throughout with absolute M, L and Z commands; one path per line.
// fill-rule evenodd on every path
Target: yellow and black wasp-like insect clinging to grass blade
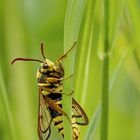
M 41 54 L 43 61 L 33 58 L 15 58 L 11 64 L 16 61 L 36 61 L 40 62 L 41 66 L 37 70 L 37 82 L 39 90 L 39 107 L 38 107 L 38 136 L 39 140 L 48 140 L 51 134 L 51 124 L 57 128 L 58 132 L 64 137 L 63 117 L 67 114 L 62 109 L 62 94 L 63 82 L 71 76 L 64 78 L 64 69 L 62 67 L 62 60 L 74 48 L 74 45 L 62 56 L 60 56 L 55 63 L 45 57 L 44 43 L 41 43 Z M 68 118 L 69 119 L 69 118 Z M 70 120 L 70 119 L 69 119 Z M 73 140 L 79 139 L 78 125 L 87 125 L 88 117 L 82 107 L 72 98 L 72 125 Z

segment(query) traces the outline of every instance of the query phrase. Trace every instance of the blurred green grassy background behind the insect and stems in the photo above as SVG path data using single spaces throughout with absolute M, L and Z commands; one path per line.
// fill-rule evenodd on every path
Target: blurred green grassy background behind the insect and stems
M 1 140 L 38 139 L 36 71 L 39 64 L 17 62 L 11 67 L 10 62 L 15 57 L 42 59 L 41 41 L 46 43 L 47 58 L 55 61 L 63 52 L 66 6 L 67 1 L 62 0 L 0 0 Z M 117 6 L 120 6 L 120 9 L 115 13 Z M 87 5 L 86 8 L 88 9 Z M 139 2 L 136 0 L 132 3 L 130 0 L 125 3 L 120 0 L 115 4 L 112 3 L 110 38 L 113 40 L 113 47 L 110 51 L 109 140 L 140 140 L 139 8 Z M 118 20 L 114 20 L 115 17 L 119 17 Z M 100 18 L 102 19 L 102 16 L 97 12 L 94 20 L 98 29 L 102 29 L 103 26 Z M 77 65 L 80 60 L 85 20 L 86 10 L 78 40 Z M 98 30 L 98 33 L 96 31 L 95 33 L 99 36 L 98 46 L 92 48 L 89 57 L 86 89 L 83 78 L 82 81 L 78 81 L 81 87 L 75 93 L 75 98 L 87 112 L 90 120 L 100 101 L 102 76 L 102 31 Z M 85 59 L 86 57 L 85 55 Z M 75 70 L 75 79 L 77 74 L 78 66 Z M 84 92 L 86 90 L 86 96 L 82 94 L 83 89 Z M 83 140 L 88 127 L 81 129 L 81 140 Z M 94 139 L 99 139 L 99 125 Z

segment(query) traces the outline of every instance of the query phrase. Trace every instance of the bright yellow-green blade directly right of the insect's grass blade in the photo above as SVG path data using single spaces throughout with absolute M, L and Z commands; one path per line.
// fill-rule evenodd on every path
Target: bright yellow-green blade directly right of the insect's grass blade
M 88 89 L 88 81 L 89 81 L 89 68 L 90 68 L 90 62 L 91 62 L 91 54 L 93 51 L 93 18 L 94 18 L 94 12 L 95 12 L 95 3 L 96 0 L 88 1 L 87 2 L 87 13 L 85 18 L 85 25 L 84 30 L 82 34 L 82 40 L 81 40 L 81 50 L 79 55 L 79 63 L 78 63 L 78 70 L 77 70 L 77 77 L 76 77 L 76 83 L 75 83 L 75 89 L 76 94 L 78 96 L 80 91 L 80 97 L 81 97 L 81 105 L 84 106 L 85 98 L 87 95 L 87 89 Z M 83 82 L 82 79 L 85 79 Z M 81 87 L 81 84 L 83 85 Z M 82 90 L 81 90 L 82 88 Z

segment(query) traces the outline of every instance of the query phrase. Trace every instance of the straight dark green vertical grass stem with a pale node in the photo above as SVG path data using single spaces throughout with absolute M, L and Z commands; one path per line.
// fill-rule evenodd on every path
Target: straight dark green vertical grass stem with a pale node
M 109 0 L 104 1 L 104 59 L 102 68 L 101 140 L 108 140 L 109 116 Z

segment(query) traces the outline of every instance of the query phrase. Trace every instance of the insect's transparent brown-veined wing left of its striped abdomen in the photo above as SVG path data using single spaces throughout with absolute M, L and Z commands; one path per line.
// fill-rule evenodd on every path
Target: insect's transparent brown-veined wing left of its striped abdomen
M 52 118 L 48 106 L 45 102 L 45 98 L 41 94 L 39 89 L 39 108 L 38 108 L 38 135 L 39 140 L 48 140 L 51 134 L 51 122 Z

